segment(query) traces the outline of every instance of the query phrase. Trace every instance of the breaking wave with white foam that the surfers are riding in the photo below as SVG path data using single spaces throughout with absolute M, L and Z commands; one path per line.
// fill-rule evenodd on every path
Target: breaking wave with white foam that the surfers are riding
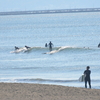
M 89 48 L 89 47 L 74 47 L 74 46 L 61 46 L 61 47 L 54 47 L 52 51 L 50 52 L 46 52 L 48 51 L 49 48 L 48 47 L 31 47 L 31 48 L 28 48 L 26 49 L 25 47 L 23 48 L 20 48 L 18 50 L 15 50 L 15 51 L 11 51 L 10 53 L 31 53 L 31 52 L 40 52 L 40 53 L 43 53 L 43 54 L 54 54 L 54 53 L 57 53 L 57 52 L 60 52 L 60 51 L 83 51 L 83 50 L 98 50 L 96 48 Z

